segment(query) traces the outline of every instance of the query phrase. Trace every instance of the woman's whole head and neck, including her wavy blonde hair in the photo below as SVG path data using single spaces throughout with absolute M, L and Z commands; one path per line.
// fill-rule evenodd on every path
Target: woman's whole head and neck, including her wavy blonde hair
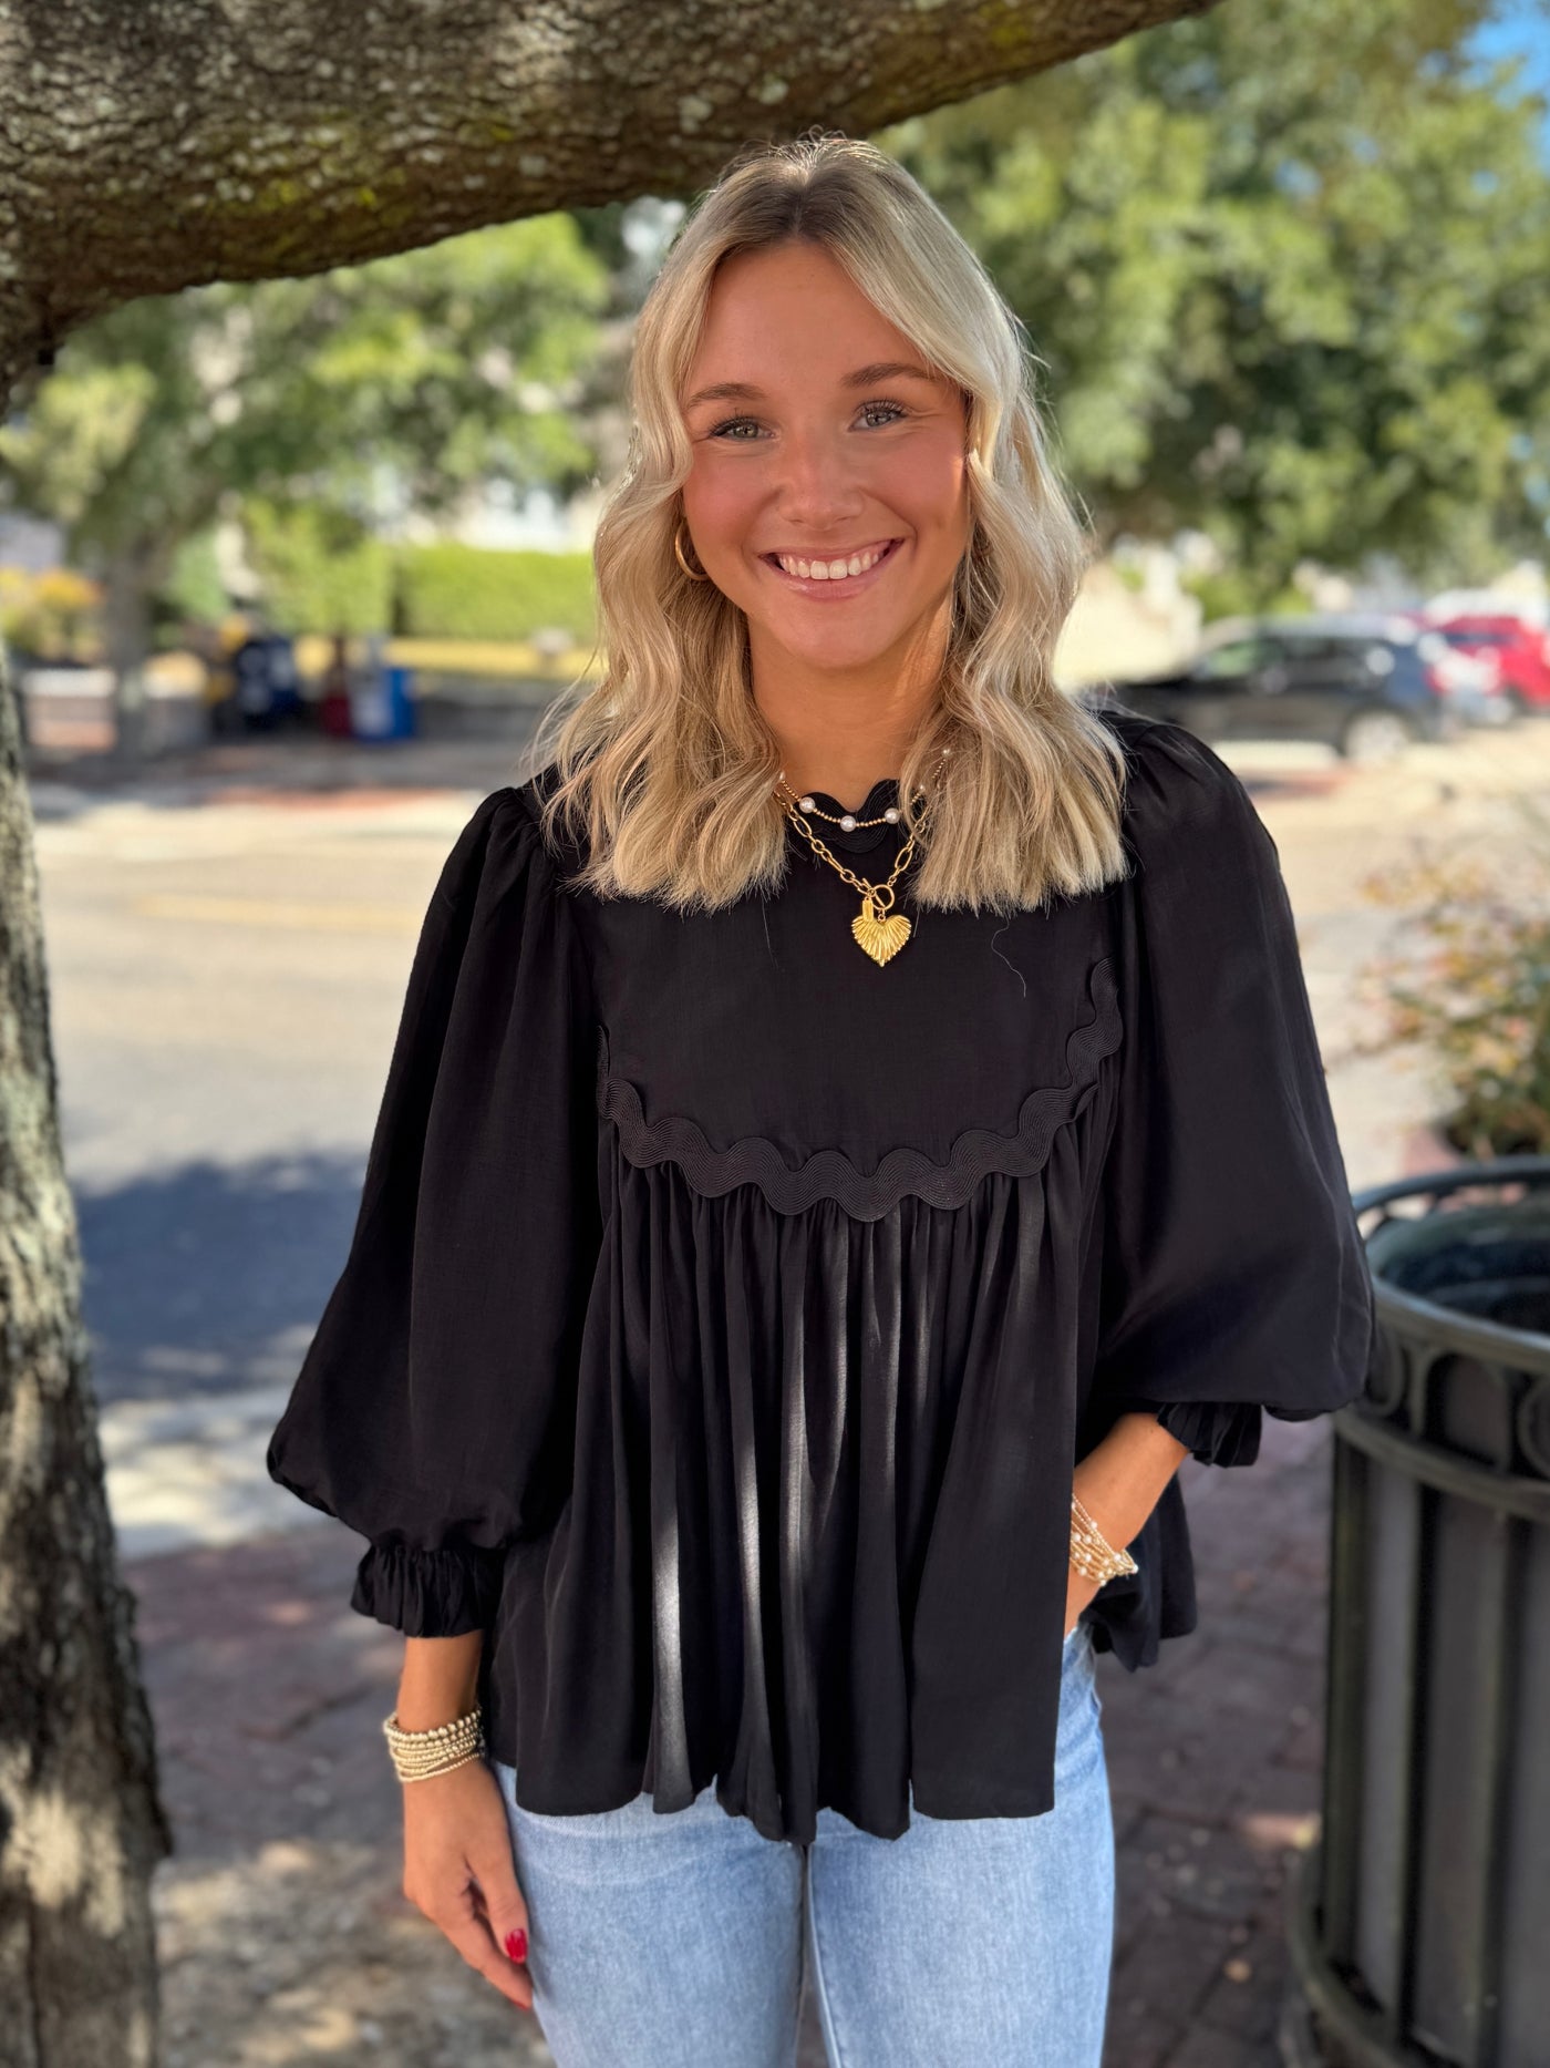
M 1017 318 L 899 165 L 810 149 L 804 180 L 734 161 L 641 312 L 595 540 L 610 666 L 539 734 L 550 817 L 597 891 L 717 908 L 785 873 L 781 771 L 897 778 L 913 827 L 951 744 L 922 908 L 1097 889 L 1122 755 L 1052 678 L 1085 542 Z

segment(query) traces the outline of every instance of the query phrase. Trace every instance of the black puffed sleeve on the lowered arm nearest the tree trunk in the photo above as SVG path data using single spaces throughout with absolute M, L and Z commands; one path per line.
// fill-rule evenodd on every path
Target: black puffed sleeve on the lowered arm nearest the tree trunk
M 570 1481 L 597 1259 L 591 993 L 523 792 L 459 835 L 420 933 L 345 1268 L 271 1479 L 368 1539 L 351 1607 L 488 1630 L 502 1547 Z

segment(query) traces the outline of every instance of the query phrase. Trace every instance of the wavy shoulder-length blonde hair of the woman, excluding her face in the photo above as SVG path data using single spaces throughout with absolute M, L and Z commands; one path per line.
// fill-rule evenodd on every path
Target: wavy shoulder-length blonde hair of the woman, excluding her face
M 734 252 L 787 242 L 827 250 L 969 405 L 969 546 L 940 695 L 899 769 L 903 821 L 920 835 L 913 898 L 1011 912 L 1102 889 L 1124 873 L 1124 751 L 1052 678 L 1085 534 L 1046 451 L 1031 354 L 924 188 L 874 145 L 835 132 L 738 153 L 682 223 L 641 310 L 630 449 L 593 542 L 606 672 L 539 722 L 533 765 L 556 767 L 546 831 L 564 821 L 579 838 L 575 883 L 676 908 L 777 889 L 789 866 L 773 794 L 779 744 L 752 697 L 746 618 L 674 556 L 692 457 L 678 397 L 711 283 Z M 936 802 L 918 825 L 926 782 Z

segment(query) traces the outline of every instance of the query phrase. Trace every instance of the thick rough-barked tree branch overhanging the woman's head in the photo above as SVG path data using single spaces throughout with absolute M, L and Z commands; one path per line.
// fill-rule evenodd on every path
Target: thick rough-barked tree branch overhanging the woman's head
M 1213 0 L 4 0 L 0 391 L 87 316 L 707 184 Z

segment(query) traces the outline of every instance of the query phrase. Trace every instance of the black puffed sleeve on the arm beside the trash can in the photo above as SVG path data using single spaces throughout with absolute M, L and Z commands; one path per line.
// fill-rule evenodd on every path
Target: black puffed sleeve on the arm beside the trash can
M 1252 1464 L 1261 1412 L 1354 1400 L 1374 1355 L 1279 854 L 1195 734 L 1128 718 L 1124 1042 L 1104 1164 L 1095 1394 Z

